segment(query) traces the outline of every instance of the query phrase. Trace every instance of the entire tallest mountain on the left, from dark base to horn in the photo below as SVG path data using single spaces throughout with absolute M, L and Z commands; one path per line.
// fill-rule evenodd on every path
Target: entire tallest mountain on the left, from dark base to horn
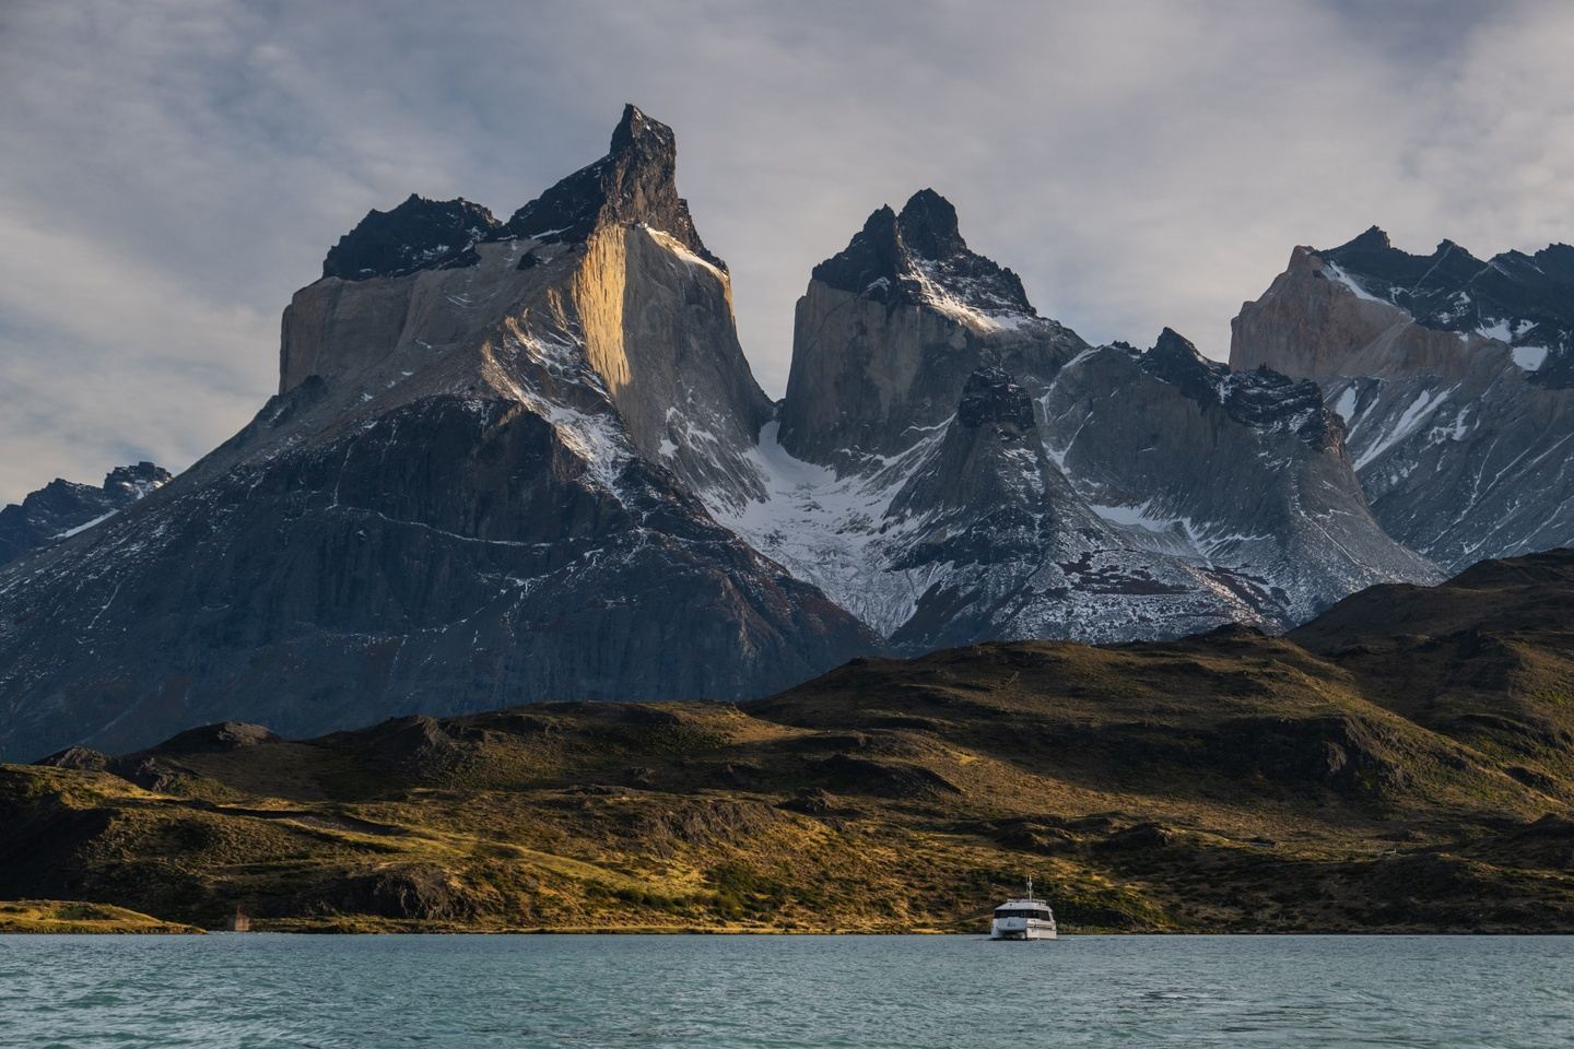
M 691 494 L 749 491 L 770 404 L 726 271 L 658 225 L 686 217 L 671 146 L 630 109 L 609 157 L 541 197 L 590 217 L 579 236 L 417 200 L 342 241 L 244 431 L 0 576 L 0 753 L 743 698 L 878 646 Z

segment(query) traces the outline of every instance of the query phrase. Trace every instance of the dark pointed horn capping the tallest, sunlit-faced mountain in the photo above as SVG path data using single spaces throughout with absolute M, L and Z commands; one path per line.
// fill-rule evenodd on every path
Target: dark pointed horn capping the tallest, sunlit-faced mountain
M 582 242 L 600 225 L 644 223 L 677 237 L 718 269 L 677 189 L 677 135 L 637 105 L 623 107 L 608 154 L 521 208 L 501 236 Z

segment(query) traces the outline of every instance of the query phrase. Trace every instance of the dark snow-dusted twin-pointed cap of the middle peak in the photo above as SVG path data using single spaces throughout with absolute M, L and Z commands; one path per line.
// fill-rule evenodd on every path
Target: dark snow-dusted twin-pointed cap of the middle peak
M 968 248 L 957 209 L 932 189 L 900 212 L 875 209 L 847 247 L 814 267 L 814 280 L 897 305 L 933 305 L 984 315 L 1037 316 L 1022 278 Z

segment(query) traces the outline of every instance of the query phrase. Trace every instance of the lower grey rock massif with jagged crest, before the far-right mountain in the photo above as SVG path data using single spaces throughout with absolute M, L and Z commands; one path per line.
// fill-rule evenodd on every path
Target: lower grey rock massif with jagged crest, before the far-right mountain
M 1231 374 L 1166 330 L 1146 354 L 1084 357 L 1044 406 L 1051 448 L 1100 514 L 1199 557 L 1273 623 L 1373 583 L 1439 577 L 1374 521 L 1343 423 L 1311 382 Z

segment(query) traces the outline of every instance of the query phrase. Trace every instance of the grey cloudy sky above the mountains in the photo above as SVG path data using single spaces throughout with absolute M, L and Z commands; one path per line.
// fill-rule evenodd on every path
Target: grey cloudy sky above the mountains
M 1040 313 L 1215 357 L 1294 244 L 1574 241 L 1571 50 L 1557 0 L 0 0 L 0 500 L 189 466 L 368 208 L 507 214 L 625 101 L 779 395 L 809 267 L 922 186 Z

